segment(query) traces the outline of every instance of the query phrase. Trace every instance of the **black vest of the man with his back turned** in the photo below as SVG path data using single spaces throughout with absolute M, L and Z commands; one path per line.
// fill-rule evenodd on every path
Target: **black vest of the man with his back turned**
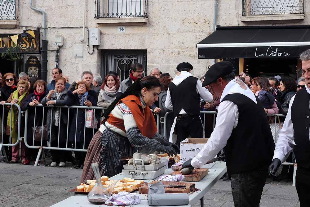
M 179 85 L 169 84 L 173 115 L 176 117 L 181 109 L 187 114 L 200 115 L 200 95 L 197 93 L 197 80 L 194 76 L 184 79 Z

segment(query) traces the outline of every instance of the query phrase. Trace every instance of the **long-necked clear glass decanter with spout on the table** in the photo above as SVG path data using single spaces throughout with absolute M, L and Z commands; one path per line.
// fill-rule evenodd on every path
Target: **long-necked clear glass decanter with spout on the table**
M 98 168 L 98 163 L 95 162 L 91 164 L 91 167 L 95 173 L 96 177 L 96 184 L 88 193 L 87 199 L 92 204 L 104 204 L 106 200 L 112 195 L 113 189 L 115 184 L 118 182 L 114 182 L 112 185 L 108 186 L 107 188 L 103 187 L 100 179 L 100 173 Z

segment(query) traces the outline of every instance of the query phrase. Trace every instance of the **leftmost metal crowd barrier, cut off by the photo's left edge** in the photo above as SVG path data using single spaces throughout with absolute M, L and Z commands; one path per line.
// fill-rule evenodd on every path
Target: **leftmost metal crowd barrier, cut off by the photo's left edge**
M 11 130 L 12 130 L 12 124 L 15 124 L 15 123 L 12 123 L 12 112 L 14 112 L 14 110 L 11 110 L 11 113 L 10 113 L 10 116 L 11 116 L 11 126 L 10 126 L 10 136 L 9 136 L 9 142 L 8 143 L 3 143 L 3 132 L 4 132 L 4 129 L 7 128 L 7 126 L 4 126 L 3 124 L 3 120 L 4 119 L 7 119 L 7 117 L 4 117 L 4 110 L 6 110 L 4 108 L 4 106 L 11 106 L 11 103 L 5 103 L 4 105 L 2 105 L 2 124 L 1 124 L 1 135 L 0 135 L 0 152 L 2 151 L 3 155 L 4 155 L 4 159 L 6 162 L 8 162 L 7 160 L 7 154 L 6 154 L 6 151 L 5 149 L 3 148 L 3 146 L 17 146 L 19 145 L 20 141 L 22 141 L 22 137 L 20 137 L 20 120 L 21 120 L 21 110 L 20 110 L 20 106 L 18 104 L 14 104 L 13 106 L 15 106 L 17 109 L 18 109 L 18 128 L 17 128 L 17 141 L 15 143 L 12 143 L 11 142 Z M 0 106 L 1 107 L 1 106 Z M 0 156 L 1 156 L 1 153 L 0 153 Z

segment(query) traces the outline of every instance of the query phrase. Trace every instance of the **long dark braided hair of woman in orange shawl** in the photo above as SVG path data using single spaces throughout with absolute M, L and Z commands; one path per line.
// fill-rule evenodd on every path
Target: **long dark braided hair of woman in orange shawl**
M 119 97 L 117 97 L 109 106 L 106 110 L 104 110 L 104 114 L 103 116 L 105 118 L 108 118 L 109 114 L 111 113 L 111 111 L 114 109 L 114 107 L 116 106 L 116 104 L 123 98 L 125 98 L 126 96 L 129 95 L 135 95 L 137 97 L 139 97 L 140 91 L 142 88 L 147 88 L 148 90 L 152 89 L 152 88 L 156 88 L 156 87 L 161 87 L 162 89 L 162 84 L 160 83 L 160 81 L 152 75 L 148 75 L 145 76 L 144 78 L 139 78 L 138 80 L 135 81 L 135 83 L 133 83 L 131 86 L 129 86 L 129 88 L 127 88 L 127 90 L 120 95 Z

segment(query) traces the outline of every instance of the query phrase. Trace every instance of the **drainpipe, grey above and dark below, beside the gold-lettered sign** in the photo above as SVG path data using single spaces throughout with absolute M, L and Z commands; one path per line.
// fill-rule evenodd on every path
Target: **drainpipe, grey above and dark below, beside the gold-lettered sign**
M 47 81 L 47 43 L 46 40 L 46 12 L 33 7 L 33 0 L 30 0 L 30 8 L 34 11 L 38 11 L 43 15 L 43 39 L 42 39 L 42 49 L 41 49 L 41 79 Z

